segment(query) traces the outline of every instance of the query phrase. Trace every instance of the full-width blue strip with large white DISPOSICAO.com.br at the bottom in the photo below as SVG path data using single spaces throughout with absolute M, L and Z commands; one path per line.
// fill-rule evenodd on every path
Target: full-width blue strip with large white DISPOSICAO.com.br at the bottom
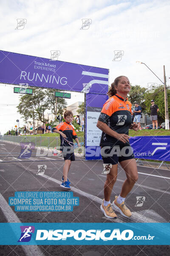
M 0 223 L 2 245 L 169 245 L 170 223 Z

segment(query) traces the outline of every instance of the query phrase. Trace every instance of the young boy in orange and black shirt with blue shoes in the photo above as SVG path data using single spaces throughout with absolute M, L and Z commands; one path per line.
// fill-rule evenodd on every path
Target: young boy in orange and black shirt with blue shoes
M 52 131 L 60 134 L 60 150 L 62 151 L 65 160 L 62 184 L 60 186 L 65 189 L 71 189 L 70 181 L 68 180 L 67 176 L 71 166 L 71 161 L 75 161 L 73 139 L 77 142 L 78 146 L 80 146 L 80 144 L 77 138 L 77 134 L 71 125 L 71 122 L 73 121 L 72 111 L 66 110 L 64 112 L 64 119 L 65 122 L 61 122 L 59 125 L 54 127 Z

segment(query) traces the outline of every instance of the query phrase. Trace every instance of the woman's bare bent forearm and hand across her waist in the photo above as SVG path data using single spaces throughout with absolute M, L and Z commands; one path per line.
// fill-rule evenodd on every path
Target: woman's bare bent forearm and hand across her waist
M 98 121 L 96 126 L 104 133 L 115 137 L 117 140 L 120 140 L 123 143 L 129 142 L 130 136 L 128 136 L 127 134 L 118 134 L 116 131 L 113 131 L 110 127 L 108 127 L 108 125 L 104 122 Z

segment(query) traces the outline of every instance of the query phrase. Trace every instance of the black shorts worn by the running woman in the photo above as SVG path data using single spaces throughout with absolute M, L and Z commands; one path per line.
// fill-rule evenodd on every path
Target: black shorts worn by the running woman
M 110 147 L 108 146 L 108 148 L 105 150 L 104 148 L 104 146 L 101 147 L 103 163 L 111 163 L 114 165 L 118 162 L 134 158 L 133 148 L 129 143 L 121 143 L 119 145 L 113 145 Z

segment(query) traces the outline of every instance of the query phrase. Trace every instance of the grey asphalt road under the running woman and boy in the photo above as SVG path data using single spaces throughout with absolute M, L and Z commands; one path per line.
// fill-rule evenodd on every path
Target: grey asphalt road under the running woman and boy
M 36 157 L 36 149 L 28 159 L 17 159 L 20 146 L 0 141 L 0 193 L 8 204 L 8 198 L 16 191 L 64 191 L 61 183 L 64 160 L 61 157 Z M 138 166 L 139 180 L 126 198 L 126 205 L 133 216 L 117 219 L 105 218 L 100 210 L 103 198 L 105 175 L 102 174 L 102 161 L 84 161 L 77 157 L 69 171 L 74 196 L 79 197 L 79 206 L 73 212 L 15 212 L 18 222 L 169 222 L 170 221 L 170 171 Z M 38 160 L 38 161 L 37 161 Z M 54 161 L 55 160 L 55 161 Z M 56 161 L 57 160 L 57 161 Z M 38 165 L 46 165 L 44 175 L 37 175 Z M 53 178 L 53 179 L 51 179 Z M 119 175 L 112 192 L 112 201 L 119 195 L 125 172 L 119 166 Z M 84 193 L 85 192 L 85 193 Z M 95 197 L 94 197 L 95 196 Z M 136 197 L 145 197 L 142 207 L 135 207 Z M 0 208 L 0 222 L 9 221 L 8 210 Z M 27 255 L 27 246 L 0 246 L 0 255 Z M 170 255 L 169 246 L 89 246 L 89 245 L 48 245 L 37 246 L 38 255 L 72 255 L 72 256 L 155 256 Z M 42 254 L 41 254 L 42 253 Z

